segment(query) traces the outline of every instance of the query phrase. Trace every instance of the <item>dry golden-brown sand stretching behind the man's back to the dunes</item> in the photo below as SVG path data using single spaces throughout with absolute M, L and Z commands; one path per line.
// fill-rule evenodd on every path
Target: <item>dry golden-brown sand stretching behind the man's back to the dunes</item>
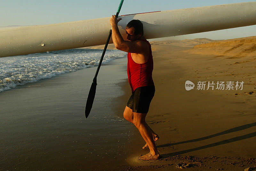
M 128 170 L 180 170 L 177 165 L 187 164 L 188 170 L 255 167 L 255 38 L 203 39 L 201 45 L 196 45 L 198 39 L 151 42 L 156 94 L 146 119 L 160 136 L 156 145 L 162 159 L 139 160 L 148 150 L 140 149 L 144 142 L 137 134 L 140 142 L 134 139 L 132 146 L 138 151 L 130 156 Z M 243 81 L 244 86 L 197 90 L 195 85 L 187 91 L 187 80 Z

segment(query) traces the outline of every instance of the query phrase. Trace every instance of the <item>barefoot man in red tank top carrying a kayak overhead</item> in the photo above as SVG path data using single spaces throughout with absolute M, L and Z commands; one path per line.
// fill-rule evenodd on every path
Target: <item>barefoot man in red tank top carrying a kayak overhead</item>
M 140 159 L 157 160 L 160 154 L 156 149 L 158 135 L 145 122 L 150 102 L 155 94 L 152 79 L 153 57 L 150 43 L 143 36 L 143 24 L 140 20 L 132 20 L 126 26 L 127 39 L 124 41 L 117 23 L 121 20 L 112 15 L 112 39 L 116 49 L 128 52 L 127 74 L 132 95 L 124 109 L 124 118 L 139 129 L 141 136 L 146 141 L 143 149 L 148 147 L 150 152 Z

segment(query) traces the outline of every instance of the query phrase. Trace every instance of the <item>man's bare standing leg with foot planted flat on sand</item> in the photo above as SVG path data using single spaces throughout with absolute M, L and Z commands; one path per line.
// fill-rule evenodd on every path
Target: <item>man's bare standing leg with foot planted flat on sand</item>
M 159 159 L 160 155 L 156 149 L 156 144 L 153 140 L 152 132 L 150 130 L 150 127 L 145 122 L 146 115 L 147 113 L 133 112 L 133 124 L 136 126 L 136 128 L 139 129 L 141 136 L 148 144 L 148 148 L 150 150 L 150 153 L 144 156 L 141 156 L 140 159 L 144 159 L 144 160 Z

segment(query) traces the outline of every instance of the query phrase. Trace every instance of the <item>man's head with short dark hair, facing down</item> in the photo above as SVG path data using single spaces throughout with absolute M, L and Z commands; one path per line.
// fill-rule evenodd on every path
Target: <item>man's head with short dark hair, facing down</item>
M 129 41 L 135 41 L 143 36 L 143 24 L 138 19 L 133 19 L 126 25 L 126 34 Z

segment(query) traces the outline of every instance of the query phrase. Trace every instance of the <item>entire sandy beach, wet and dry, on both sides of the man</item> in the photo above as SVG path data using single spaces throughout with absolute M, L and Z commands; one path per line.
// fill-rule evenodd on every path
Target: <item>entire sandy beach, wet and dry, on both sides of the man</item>
M 160 136 L 160 160 L 138 158 L 149 150 L 142 149 L 139 131 L 122 116 L 131 89 L 126 58 L 119 58 L 101 67 L 88 119 L 84 105 L 96 67 L 1 92 L 0 170 L 256 167 L 256 37 L 151 45 L 156 93 L 146 121 Z M 186 81 L 194 89 L 186 90 Z M 208 82 L 218 81 L 244 84 L 207 90 Z M 198 82 L 206 82 L 205 89 L 197 89 Z

